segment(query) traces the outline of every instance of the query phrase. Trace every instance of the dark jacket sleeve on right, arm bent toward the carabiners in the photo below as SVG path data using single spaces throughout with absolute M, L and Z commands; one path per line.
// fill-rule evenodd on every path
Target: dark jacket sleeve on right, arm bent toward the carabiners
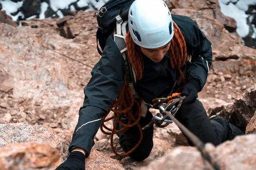
M 191 55 L 191 62 L 187 62 L 186 83 L 196 81 L 199 91 L 206 83 L 209 68 L 212 64 L 211 42 L 191 20 L 191 27 L 188 31 L 190 38 L 186 39 L 188 53 Z

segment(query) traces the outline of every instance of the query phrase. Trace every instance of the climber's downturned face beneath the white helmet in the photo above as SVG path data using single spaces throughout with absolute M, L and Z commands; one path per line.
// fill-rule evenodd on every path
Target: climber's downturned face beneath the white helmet
M 169 50 L 170 44 L 171 43 L 169 42 L 169 43 L 165 44 L 164 46 L 156 48 L 156 49 L 146 49 L 146 48 L 140 47 L 140 50 L 150 60 L 158 63 L 163 59 L 164 55 Z

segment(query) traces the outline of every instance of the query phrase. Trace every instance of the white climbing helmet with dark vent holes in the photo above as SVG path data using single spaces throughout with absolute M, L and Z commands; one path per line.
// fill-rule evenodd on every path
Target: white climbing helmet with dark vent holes
M 140 47 L 159 48 L 174 36 L 172 16 L 163 0 L 135 0 L 128 24 L 133 41 Z

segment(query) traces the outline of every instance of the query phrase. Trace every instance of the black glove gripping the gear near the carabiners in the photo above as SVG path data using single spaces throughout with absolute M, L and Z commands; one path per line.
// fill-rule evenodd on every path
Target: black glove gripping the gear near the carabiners
M 181 96 L 186 96 L 183 104 L 191 104 L 197 100 L 197 93 L 199 91 L 199 85 L 196 80 L 192 80 L 184 85 L 181 92 Z

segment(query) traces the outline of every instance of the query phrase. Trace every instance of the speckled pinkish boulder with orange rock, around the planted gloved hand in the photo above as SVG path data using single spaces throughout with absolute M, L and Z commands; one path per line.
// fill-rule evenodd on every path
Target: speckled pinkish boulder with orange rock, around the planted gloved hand
M 72 133 L 42 125 L 0 124 L 1 170 L 53 170 L 67 158 Z M 15 169 L 17 166 L 20 169 Z M 118 160 L 93 149 L 86 159 L 86 169 L 101 168 L 124 170 Z

